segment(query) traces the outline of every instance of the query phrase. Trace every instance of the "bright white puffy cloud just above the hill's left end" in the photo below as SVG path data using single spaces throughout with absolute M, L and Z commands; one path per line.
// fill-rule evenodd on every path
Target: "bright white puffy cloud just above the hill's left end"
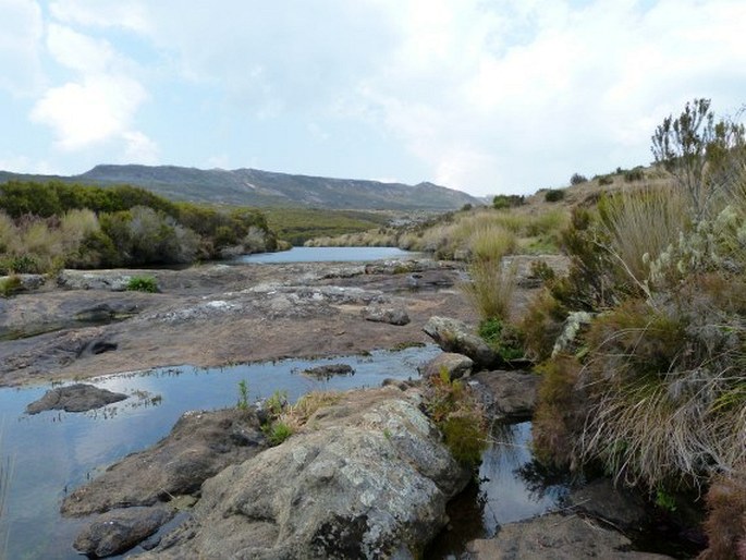
M 127 132 L 146 97 L 134 80 L 89 76 L 49 89 L 34 107 L 32 119 L 53 129 L 60 148 L 77 150 Z

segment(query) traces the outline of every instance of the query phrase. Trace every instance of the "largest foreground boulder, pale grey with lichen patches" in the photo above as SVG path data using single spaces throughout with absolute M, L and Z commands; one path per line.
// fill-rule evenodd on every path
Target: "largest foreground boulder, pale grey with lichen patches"
M 207 480 L 142 558 L 415 558 L 468 480 L 416 391 L 345 393 L 279 447 Z

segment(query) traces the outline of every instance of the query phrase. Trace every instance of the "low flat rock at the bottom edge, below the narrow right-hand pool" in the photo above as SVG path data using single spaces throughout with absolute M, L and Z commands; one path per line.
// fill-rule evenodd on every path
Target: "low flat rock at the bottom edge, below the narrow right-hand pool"
M 627 537 L 577 515 L 550 513 L 540 518 L 503 525 L 491 539 L 468 544 L 476 560 L 663 560 L 669 557 L 628 550 Z

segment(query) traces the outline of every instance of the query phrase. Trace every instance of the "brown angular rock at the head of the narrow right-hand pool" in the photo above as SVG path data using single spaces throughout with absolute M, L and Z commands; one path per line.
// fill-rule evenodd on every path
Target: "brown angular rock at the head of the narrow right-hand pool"
M 522 419 L 534 415 L 540 376 L 526 372 L 480 372 L 470 380 L 492 418 Z

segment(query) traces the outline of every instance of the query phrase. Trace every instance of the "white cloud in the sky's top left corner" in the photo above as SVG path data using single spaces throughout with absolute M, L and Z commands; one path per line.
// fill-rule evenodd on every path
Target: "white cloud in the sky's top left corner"
M 39 49 L 44 33 L 41 9 L 30 0 L 0 0 L 0 89 L 32 95 L 44 81 Z

